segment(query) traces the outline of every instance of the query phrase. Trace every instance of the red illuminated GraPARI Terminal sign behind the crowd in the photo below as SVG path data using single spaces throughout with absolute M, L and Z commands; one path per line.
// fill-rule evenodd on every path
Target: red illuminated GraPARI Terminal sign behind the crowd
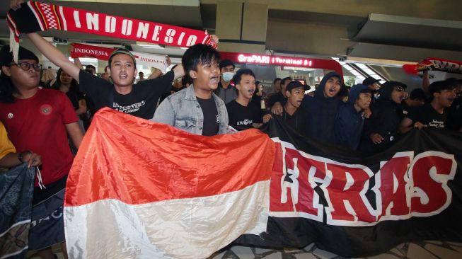
M 284 57 L 238 52 L 220 52 L 220 56 L 221 59 L 230 59 L 235 63 L 328 69 L 337 71 L 339 74 L 343 74 L 342 66 L 333 59 L 307 59 L 304 57 Z

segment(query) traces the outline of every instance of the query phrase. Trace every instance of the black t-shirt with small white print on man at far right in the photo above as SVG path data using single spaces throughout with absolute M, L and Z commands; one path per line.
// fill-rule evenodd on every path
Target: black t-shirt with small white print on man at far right
M 427 103 L 419 108 L 411 109 L 408 117 L 412 122 L 421 122 L 434 129 L 444 129 L 446 121 L 446 111 L 438 113 L 431 104 Z

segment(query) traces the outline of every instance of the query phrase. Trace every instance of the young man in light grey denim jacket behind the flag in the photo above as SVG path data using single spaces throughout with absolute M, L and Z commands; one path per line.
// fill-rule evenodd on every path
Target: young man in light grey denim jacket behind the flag
M 219 82 L 219 58 L 219 53 L 209 45 L 197 44 L 187 49 L 181 63 L 185 74 L 192 78 L 192 85 L 163 100 L 151 120 L 192 134 L 226 133 L 226 106 L 213 93 Z

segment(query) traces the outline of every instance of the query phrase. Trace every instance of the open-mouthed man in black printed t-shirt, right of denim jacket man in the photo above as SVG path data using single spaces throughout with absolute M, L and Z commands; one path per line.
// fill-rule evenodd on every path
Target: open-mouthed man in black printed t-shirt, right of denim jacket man
M 233 77 L 233 82 L 238 89 L 238 98 L 226 104 L 228 110 L 229 125 L 234 129 L 250 129 L 253 123 L 266 123 L 271 115 L 263 116 L 263 113 L 250 102 L 255 92 L 255 74 L 250 69 L 239 69 Z

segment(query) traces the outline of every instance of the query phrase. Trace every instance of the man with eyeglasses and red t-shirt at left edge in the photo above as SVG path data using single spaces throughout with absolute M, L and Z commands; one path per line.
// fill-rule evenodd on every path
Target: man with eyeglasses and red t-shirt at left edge
M 74 160 L 67 136 L 79 148 L 83 134 L 66 94 L 38 87 L 42 65 L 37 56 L 23 47 L 18 54 L 18 62 L 13 62 L 8 45 L 0 50 L 0 121 L 16 149 L 42 156 L 29 248 L 39 250 L 42 258 L 53 258 L 50 246 L 65 240 L 63 218 L 51 215 L 62 215 L 64 188 Z M 35 219 L 37 215 L 42 216 Z

